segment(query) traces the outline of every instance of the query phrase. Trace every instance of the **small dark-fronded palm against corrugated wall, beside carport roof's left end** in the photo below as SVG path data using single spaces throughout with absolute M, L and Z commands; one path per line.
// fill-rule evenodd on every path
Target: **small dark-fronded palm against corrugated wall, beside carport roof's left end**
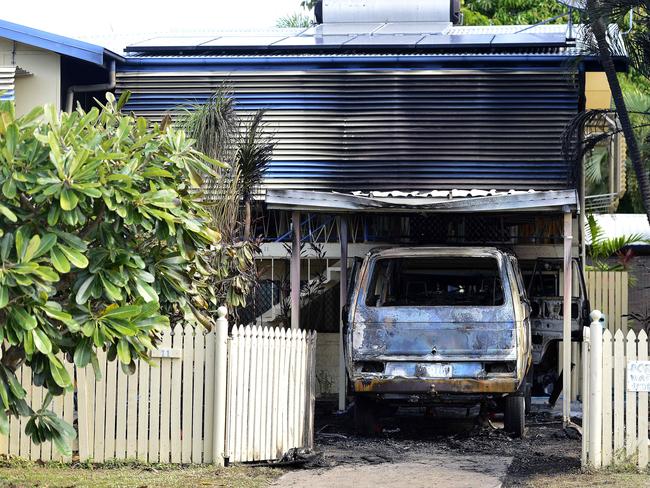
M 241 130 L 233 165 L 239 175 L 239 188 L 244 204 L 244 239 L 251 234 L 251 199 L 264 177 L 274 143 L 265 134 L 264 111 L 257 111 Z

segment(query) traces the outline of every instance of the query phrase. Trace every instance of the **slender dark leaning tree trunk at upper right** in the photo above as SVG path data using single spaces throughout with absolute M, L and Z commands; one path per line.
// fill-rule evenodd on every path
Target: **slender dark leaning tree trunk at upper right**
M 645 166 L 643 165 L 641 151 L 639 151 L 639 145 L 636 140 L 636 135 L 634 134 L 632 122 L 630 121 L 630 115 L 627 111 L 627 107 L 625 106 L 623 91 L 621 90 L 621 85 L 618 81 L 618 75 L 614 66 L 614 60 L 612 58 L 610 46 L 607 42 L 606 19 L 599 14 L 601 11 L 601 6 L 600 2 L 597 0 L 587 2 L 587 11 L 591 21 L 591 29 L 594 33 L 594 37 L 596 38 L 596 43 L 598 44 L 600 62 L 603 66 L 603 69 L 605 70 L 607 82 L 609 83 L 609 89 L 612 92 L 612 98 L 614 99 L 614 105 L 616 106 L 616 112 L 621 124 L 621 130 L 625 136 L 627 153 L 630 157 L 632 167 L 634 168 L 634 173 L 636 174 L 636 179 L 639 183 L 639 190 L 641 192 L 643 207 L 645 208 L 648 222 L 650 222 L 650 181 L 648 180 L 648 173 L 645 169 Z

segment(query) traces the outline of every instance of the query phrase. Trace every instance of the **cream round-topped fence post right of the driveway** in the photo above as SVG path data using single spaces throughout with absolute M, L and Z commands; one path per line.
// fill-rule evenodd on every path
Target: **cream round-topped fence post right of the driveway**
M 589 315 L 591 326 L 591 367 L 589 385 L 589 454 L 591 465 L 600 468 L 602 464 L 602 411 L 603 411 L 603 326 L 605 315 L 594 310 Z M 566 395 L 566 393 L 565 393 Z

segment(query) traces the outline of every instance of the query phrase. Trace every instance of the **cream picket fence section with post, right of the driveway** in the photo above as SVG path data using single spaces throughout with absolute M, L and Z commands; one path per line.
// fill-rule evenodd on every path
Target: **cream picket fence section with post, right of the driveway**
M 630 391 L 630 361 L 648 360 L 648 336 L 621 329 L 603 330 L 604 319 L 593 312 L 582 343 L 582 465 L 603 468 L 636 464 L 648 468 L 648 392 Z

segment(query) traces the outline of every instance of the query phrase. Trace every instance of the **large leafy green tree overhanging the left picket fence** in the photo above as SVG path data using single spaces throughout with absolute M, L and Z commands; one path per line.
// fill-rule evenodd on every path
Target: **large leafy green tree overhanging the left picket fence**
M 73 387 L 65 362 L 98 375 L 102 349 L 132 373 L 170 317 L 209 325 L 217 301 L 220 235 L 196 189 L 220 163 L 181 130 L 120 114 L 127 98 L 22 117 L 0 103 L 0 432 L 29 416 L 32 441 L 64 452 L 74 431 L 48 407 Z M 23 364 L 48 391 L 38 410 Z

